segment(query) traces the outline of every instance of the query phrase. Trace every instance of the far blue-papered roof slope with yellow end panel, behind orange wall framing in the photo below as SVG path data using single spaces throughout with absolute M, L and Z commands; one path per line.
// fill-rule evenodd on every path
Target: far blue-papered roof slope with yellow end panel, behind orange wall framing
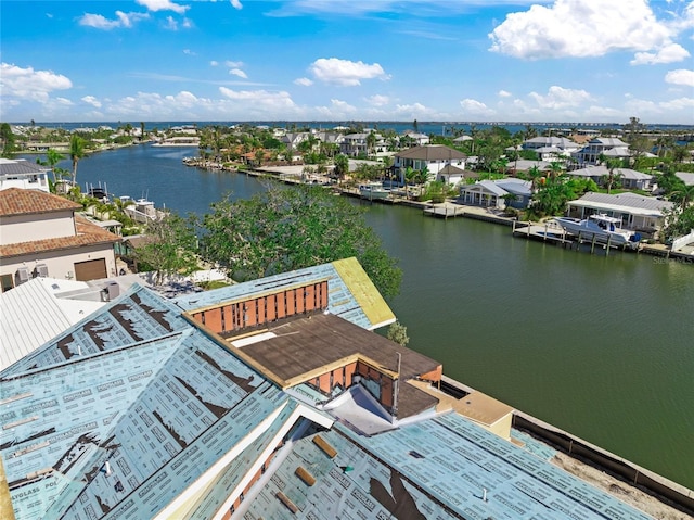
M 261 293 L 327 280 L 327 310 L 364 329 L 373 330 L 395 321 L 395 315 L 375 290 L 356 258 L 323 264 L 292 272 L 269 276 L 203 293 L 174 299 L 183 310 L 218 305 Z

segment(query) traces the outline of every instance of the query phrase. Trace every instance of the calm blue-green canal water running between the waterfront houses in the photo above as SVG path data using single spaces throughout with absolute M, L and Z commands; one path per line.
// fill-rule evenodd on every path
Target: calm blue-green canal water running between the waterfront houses
M 203 213 L 253 177 L 182 165 L 195 149 L 132 147 L 80 161 L 78 182 Z M 68 163 L 63 164 L 70 167 Z M 502 226 L 374 204 L 400 259 L 390 305 L 448 376 L 694 487 L 694 266 L 566 251 Z

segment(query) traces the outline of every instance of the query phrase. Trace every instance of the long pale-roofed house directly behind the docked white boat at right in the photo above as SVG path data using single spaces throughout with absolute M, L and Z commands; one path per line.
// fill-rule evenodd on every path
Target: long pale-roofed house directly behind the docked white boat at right
M 673 204 L 655 196 L 625 192 L 617 194 L 586 193 L 568 203 L 568 216 L 587 218 L 594 213 L 604 213 L 621 219 L 621 227 L 642 233 L 654 234 L 664 225 L 664 212 Z

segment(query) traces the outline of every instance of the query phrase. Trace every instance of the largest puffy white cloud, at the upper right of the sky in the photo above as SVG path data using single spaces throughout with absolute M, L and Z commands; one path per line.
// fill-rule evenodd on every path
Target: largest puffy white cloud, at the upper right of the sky
M 671 43 L 671 36 L 646 0 L 556 0 L 510 13 L 489 34 L 491 51 L 529 60 L 648 51 Z

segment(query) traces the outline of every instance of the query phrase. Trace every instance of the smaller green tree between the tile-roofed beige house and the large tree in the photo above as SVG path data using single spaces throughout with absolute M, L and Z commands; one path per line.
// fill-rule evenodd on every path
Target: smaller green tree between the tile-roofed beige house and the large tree
M 198 268 L 197 238 L 194 218 L 183 218 L 167 213 L 163 218 L 147 221 L 144 234 L 146 243 L 134 252 L 134 259 L 146 270 L 156 272 L 157 286 L 170 275 L 190 275 Z

